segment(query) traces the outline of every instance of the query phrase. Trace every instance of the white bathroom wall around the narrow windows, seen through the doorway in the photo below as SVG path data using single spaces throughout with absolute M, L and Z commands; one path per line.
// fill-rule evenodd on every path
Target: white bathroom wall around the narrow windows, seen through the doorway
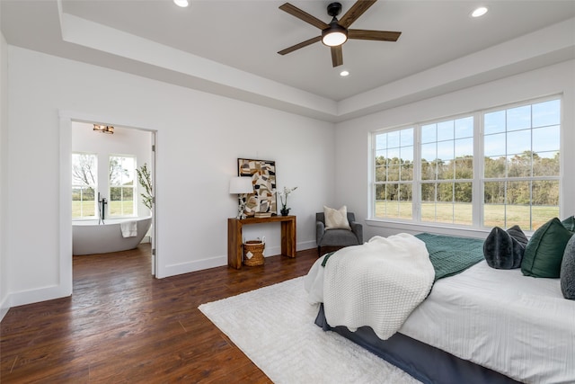
M 94 132 L 93 124 L 86 122 L 72 122 L 72 151 L 89 152 L 98 155 L 98 180 L 99 192 L 102 198 L 110 201 L 108 195 L 109 189 L 106 187 L 108 180 L 108 160 L 111 155 L 130 155 L 136 156 L 136 166 L 146 164 L 151 169 L 152 163 L 152 132 L 141 129 L 129 129 L 125 127 L 114 126 L 114 134 L 109 135 L 101 132 Z M 136 196 L 137 196 L 137 216 L 144 217 L 150 215 L 150 210 L 142 202 L 140 193 L 144 188 L 137 182 L 136 177 Z M 104 181 L 102 183 L 102 181 Z M 110 206 L 107 206 L 109 208 Z M 110 215 L 106 212 L 106 218 Z

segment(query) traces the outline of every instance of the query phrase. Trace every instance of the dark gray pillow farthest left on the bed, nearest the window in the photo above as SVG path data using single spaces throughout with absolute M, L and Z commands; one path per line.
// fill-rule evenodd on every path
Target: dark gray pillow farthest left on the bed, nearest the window
M 527 237 L 519 226 L 513 226 L 507 231 L 495 227 L 491 229 L 483 243 L 485 261 L 491 268 L 519 268 L 527 241 Z

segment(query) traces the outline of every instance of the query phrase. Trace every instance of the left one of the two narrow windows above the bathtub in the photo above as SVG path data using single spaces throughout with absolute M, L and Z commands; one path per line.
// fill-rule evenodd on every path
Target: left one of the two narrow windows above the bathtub
M 72 218 L 96 216 L 95 192 L 98 185 L 97 156 L 72 154 Z

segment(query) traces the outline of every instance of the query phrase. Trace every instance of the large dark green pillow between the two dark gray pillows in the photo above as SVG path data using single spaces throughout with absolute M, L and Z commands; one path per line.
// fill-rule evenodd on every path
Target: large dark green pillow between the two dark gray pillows
M 521 261 L 526 276 L 558 278 L 567 242 L 573 234 L 559 219 L 547 221 L 529 239 Z

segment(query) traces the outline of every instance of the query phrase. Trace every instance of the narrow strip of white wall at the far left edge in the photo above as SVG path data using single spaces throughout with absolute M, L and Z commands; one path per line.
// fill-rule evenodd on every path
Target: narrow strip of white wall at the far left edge
M 6 188 L 8 187 L 7 166 L 8 157 L 8 58 L 6 50 L 8 46 L 4 35 L 0 33 L 0 234 L 6 230 Z M 8 302 L 8 256 L 6 252 L 6 241 L 4 236 L 0 236 L 0 320 L 4 317 L 10 303 Z

